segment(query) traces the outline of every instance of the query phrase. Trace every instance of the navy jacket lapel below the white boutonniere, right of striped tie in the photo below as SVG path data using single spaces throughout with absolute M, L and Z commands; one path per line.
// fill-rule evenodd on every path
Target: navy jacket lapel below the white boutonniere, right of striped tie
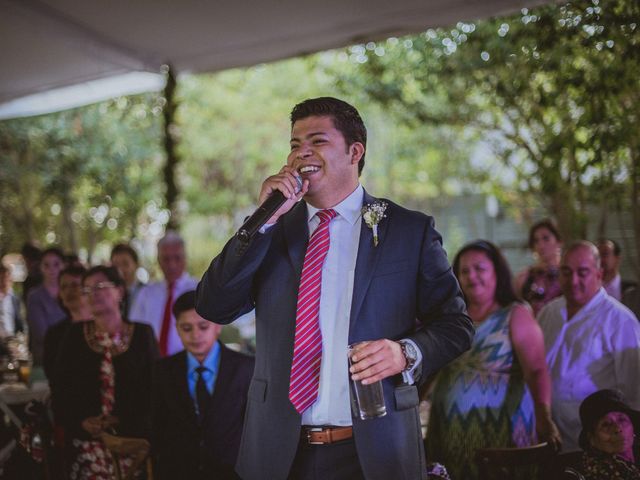
M 364 192 L 363 205 L 368 205 L 378 201 L 366 191 Z M 387 213 L 388 215 L 388 213 Z M 356 271 L 353 280 L 353 298 L 351 299 L 351 316 L 349 322 L 349 341 L 351 338 L 355 323 L 362 307 L 362 302 L 369 289 L 373 272 L 375 272 L 380 255 L 385 248 L 385 239 L 387 238 L 387 225 L 389 219 L 385 218 L 378 224 L 378 245 L 373 245 L 373 230 L 367 226 L 364 219 L 360 218 L 360 242 L 358 244 L 358 257 L 356 259 Z

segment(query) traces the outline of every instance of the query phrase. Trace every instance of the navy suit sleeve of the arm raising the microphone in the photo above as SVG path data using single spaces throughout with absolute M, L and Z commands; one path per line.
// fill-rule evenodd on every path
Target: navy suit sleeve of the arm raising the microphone
M 260 267 L 277 225 L 244 245 L 233 237 L 202 276 L 196 311 L 216 323 L 228 324 L 254 308 L 253 277 Z

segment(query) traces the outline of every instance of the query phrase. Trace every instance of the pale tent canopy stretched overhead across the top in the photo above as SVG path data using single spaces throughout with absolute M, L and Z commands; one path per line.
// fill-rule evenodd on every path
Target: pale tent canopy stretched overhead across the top
M 0 118 L 159 88 L 162 64 L 211 72 L 474 20 L 544 0 L 0 0 Z M 132 72 L 148 72 L 133 81 Z M 92 86 L 91 86 L 92 85 Z M 116 86 L 117 85 L 117 86 Z M 124 85 L 124 86 L 123 86 Z M 110 93 L 114 88 L 113 93 Z M 86 89 L 85 89 L 86 90 Z M 69 97 L 69 91 L 67 91 Z M 78 98 L 73 98 L 78 97 Z M 7 113 L 7 108 L 14 113 Z M 51 108 L 50 108 L 51 109 Z M 22 113 L 20 111 L 22 110 Z

